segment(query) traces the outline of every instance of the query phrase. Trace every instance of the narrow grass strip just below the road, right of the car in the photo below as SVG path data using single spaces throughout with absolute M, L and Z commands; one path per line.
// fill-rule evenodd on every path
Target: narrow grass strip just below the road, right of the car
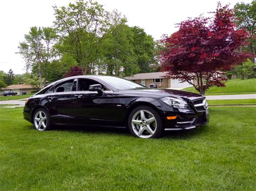
M 256 105 L 256 99 L 245 100 L 207 100 L 209 105 Z

